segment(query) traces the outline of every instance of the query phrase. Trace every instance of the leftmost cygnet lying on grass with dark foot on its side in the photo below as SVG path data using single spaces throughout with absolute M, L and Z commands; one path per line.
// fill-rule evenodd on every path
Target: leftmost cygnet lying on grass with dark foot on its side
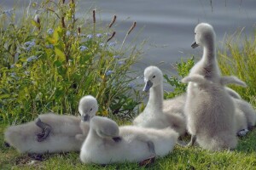
M 8 127 L 5 141 L 20 153 L 79 151 L 89 132 L 90 117 L 95 116 L 97 110 L 96 99 L 84 96 L 79 102 L 82 122 L 76 116 L 43 114 L 34 122 Z

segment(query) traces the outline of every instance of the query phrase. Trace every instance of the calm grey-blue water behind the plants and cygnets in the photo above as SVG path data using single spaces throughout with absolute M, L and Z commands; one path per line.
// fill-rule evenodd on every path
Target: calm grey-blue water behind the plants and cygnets
M 1 0 L 0 6 L 6 10 L 17 2 Z M 28 0 L 19 2 L 24 6 L 29 3 Z M 106 22 L 110 22 L 113 14 L 118 16 L 119 24 L 115 29 L 119 42 L 122 42 L 132 22 L 137 21 L 137 27 L 127 41 L 142 29 L 139 41 L 148 39 L 143 59 L 137 66 L 139 70 L 148 65 L 158 65 L 165 72 L 174 72 L 172 64 L 180 58 L 201 55 L 201 49 L 190 48 L 194 28 L 199 22 L 208 22 L 214 27 L 218 42 L 222 42 L 226 34 L 231 35 L 242 27 L 247 34 L 253 33 L 256 23 L 255 0 L 80 0 L 79 15 L 88 13 L 90 8 L 101 11 L 101 20 Z M 163 63 L 158 64 L 161 61 Z

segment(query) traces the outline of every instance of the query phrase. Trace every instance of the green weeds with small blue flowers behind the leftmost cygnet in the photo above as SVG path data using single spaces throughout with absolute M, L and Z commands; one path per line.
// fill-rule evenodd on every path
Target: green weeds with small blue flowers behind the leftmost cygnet
M 31 3 L 23 18 L 14 9 L 0 15 L 0 122 L 27 122 L 49 111 L 75 115 L 87 94 L 98 100 L 99 115 L 137 110 L 142 97 L 130 67 L 143 44 L 125 45 L 136 22 L 120 43 L 116 16 L 103 26 L 93 10 L 84 24 L 77 6 L 44 0 Z

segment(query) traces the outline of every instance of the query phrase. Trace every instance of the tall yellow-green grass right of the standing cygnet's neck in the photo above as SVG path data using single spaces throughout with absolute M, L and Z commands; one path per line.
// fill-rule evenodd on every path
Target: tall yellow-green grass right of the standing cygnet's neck
M 224 49 L 218 51 L 218 65 L 224 75 L 234 75 L 247 83 L 247 88 L 230 86 L 243 99 L 256 104 L 256 32 L 247 36 L 240 31 L 224 41 Z

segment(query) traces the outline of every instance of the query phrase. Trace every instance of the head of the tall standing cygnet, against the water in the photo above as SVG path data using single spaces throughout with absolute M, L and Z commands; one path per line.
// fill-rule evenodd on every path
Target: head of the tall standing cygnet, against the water
M 213 46 L 215 41 L 215 32 L 213 27 L 207 23 L 201 23 L 195 26 L 195 42 L 191 45 L 192 48 L 198 46 Z

